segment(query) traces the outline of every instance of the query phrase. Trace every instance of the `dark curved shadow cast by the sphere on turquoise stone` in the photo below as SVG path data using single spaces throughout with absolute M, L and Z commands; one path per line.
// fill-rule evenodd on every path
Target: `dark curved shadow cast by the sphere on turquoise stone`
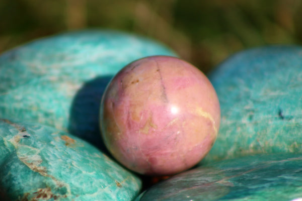
M 112 76 L 100 76 L 86 82 L 74 96 L 68 130 L 109 154 L 101 137 L 99 111 L 102 95 Z

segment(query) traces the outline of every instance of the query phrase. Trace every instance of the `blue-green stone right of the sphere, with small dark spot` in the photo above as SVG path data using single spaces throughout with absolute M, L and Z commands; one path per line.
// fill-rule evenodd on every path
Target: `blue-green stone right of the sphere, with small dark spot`
M 203 163 L 302 152 L 302 48 L 242 51 L 208 75 L 220 102 L 216 142 Z

